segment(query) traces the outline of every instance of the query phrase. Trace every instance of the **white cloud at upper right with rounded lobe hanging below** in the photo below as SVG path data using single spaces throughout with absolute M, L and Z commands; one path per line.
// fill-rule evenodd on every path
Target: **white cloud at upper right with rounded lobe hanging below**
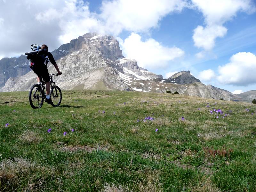
M 193 40 L 196 47 L 210 50 L 214 47 L 215 39 L 223 37 L 227 28 L 223 24 L 236 16 L 239 11 L 255 12 L 251 0 L 192 0 L 192 4 L 204 15 L 205 27 L 197 26 Z

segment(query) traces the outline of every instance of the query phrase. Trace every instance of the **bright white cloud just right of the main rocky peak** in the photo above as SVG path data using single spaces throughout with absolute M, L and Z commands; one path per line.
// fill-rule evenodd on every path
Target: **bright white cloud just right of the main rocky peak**
M 136 33 L 119 43 L 125 57 L 137 60 L 140 67 L 147 69 L 164 68 L 168 61 L 184 55 L 181 49 L 165 47 L 152 38 L 142 41 L 141 36 Z

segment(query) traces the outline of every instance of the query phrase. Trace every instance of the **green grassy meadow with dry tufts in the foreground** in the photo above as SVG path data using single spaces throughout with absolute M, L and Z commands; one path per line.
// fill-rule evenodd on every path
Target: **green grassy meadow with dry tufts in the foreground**
M 256 191 L 251 103 L 72 90 L 32 109 L 27 95 L 0 93 L 0 191 Z

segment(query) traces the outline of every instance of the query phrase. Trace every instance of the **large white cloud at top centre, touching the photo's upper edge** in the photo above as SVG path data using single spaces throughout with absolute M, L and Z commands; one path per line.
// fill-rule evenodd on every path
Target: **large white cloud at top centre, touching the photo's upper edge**
M 106 28 L 118 35 L 122 30 L 145 32 L 158 27 L 158 22 L 170 12 L 180 12 L 184 0 L 113 0 L 103 1 L 100 17 Z

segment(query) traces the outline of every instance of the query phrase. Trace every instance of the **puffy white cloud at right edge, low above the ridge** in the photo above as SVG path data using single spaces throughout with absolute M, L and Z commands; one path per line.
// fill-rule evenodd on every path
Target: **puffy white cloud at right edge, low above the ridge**
M 230 62 L 218 68 L 218 80 L 222 84 L 242 85 L 256 83 L 256 56 L 251 52 L 232 55 Z

